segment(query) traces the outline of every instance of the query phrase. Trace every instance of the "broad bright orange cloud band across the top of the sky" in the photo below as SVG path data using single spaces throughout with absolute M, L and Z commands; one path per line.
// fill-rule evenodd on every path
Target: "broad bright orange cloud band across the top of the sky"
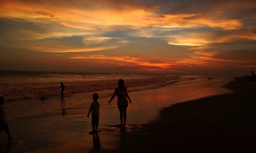
M 133 4 L 124 3 L 117 8 L 112 6 L 113 3 L 108 4 L 108 1 L 102 6 L 96 1 L 90 3 L 89 7 L 84 5 L 85 8 L 82 9 L 78 5 L 74 6 L 73 2 L 68 3 L 70 7 L 67 7 L 67 2 L 58 1 L 58 3 L 56 5 L 55 3 L 37 4 L 11 0 L 3 1 L 0 7 L 0 16 L 30 19 L 50 18 L 68 27 L 101 31 L 111 30 L 113 25 L 130 25 L 131 29 L 143 27 L 219 27 L 225 30 L 239 29 L 242 25 L 239 19 L 215 19 L 219 17 L 219 14 L 216 16 L 215 14 L 203 16 L 195 13 L 157 14 L 156 11 L 161 9 L 159 6 L 145 9 L 142 5 L 129 7 Z M 127 26 L 125 27 L 127 28 Z

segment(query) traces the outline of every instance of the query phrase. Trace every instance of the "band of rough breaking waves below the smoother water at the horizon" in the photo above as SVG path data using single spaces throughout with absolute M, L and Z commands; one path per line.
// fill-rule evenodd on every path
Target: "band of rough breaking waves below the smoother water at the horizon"
M 98 76 L 96 76 L 98 77 Z M 172 81 L 177 81 L 180 79 L 180 76 L 177 75 L 150 75 L 146 76 L 143 75 L 142 77 L 133 77 L 124 75 L 120 75 L 120 78 L 125 78 L 125 86 L 129 89 L 132 89 L 130 91 L 137 91 L 142 90 L 143 88 L 133 88 L 133 87 L 140 87 L 140 86 L 147 86 L 151 84 L 161 84 L 160 86 L 164 86 L 165 84 L 168 84 Z M 74 79 L 72 82 L 63 82 L 63 84 L 66 86 L 66 89 L 64 91 L 65 95 L 73 94 L 73 93 L 82 93 L 82 92 L 95 92 L 100 90 L 108 90 L 108 89 L 114 89 L 117 87 L 117 78 L 119 78 L 118 75 L 115 79 L 108 80 L 93 80 L 88 81 L 87 78 L 84 79 L 84 81 L 81 81 L 81 79 L 77 79 L 76 82 Z M 121 79 L 122 79 L 121 78 Z M 135 78 L 135 79 L 134 79 Z M 58 80 L 57 80 L 58 81 Z M 60 95 L 60 90 L 58 89 L 60 86 L 60 83 L 10 83 L 10 84 L 0 84 L 0 90 L 1 94 L 5 96 L 7 101 L 13 101 L 13 100 L 21 100 L 21 99 L 34 99 L 38 98 L 41 95 L 44 96 L 57 96 Z M 159 86 L 159 85 L 158 85 Z M 145 88 L 144 90 L 146 90 Z

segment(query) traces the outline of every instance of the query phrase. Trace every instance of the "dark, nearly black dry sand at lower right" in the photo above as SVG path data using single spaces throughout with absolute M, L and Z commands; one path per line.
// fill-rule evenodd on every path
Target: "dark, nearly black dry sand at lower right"
M 163 109 L 143 132 L 121 135 L 117 152 L 256 151 L 256 82 L 241 79 L 226 88 L 234 92 Z

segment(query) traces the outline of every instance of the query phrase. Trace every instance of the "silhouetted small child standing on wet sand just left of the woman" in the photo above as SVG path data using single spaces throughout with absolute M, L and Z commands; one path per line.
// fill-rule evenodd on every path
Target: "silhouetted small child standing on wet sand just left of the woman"
M 89 134 L 97 133 L 98 125 L 99 125 L 99 103 L 98 103 L 99 95 L 97 93 L 93 94 L 93 103 L 91 104 L 90 110 L 87 114 L 87 117 L 89 118 L 89 115 L 92 111 L 92 127 L 93 131 L 89 132 Z

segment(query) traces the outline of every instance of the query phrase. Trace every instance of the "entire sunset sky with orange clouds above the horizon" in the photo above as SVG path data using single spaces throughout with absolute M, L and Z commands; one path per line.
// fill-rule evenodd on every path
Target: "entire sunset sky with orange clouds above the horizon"
M 0 70 L 249 75 L 256 1 L 0 0 Z

